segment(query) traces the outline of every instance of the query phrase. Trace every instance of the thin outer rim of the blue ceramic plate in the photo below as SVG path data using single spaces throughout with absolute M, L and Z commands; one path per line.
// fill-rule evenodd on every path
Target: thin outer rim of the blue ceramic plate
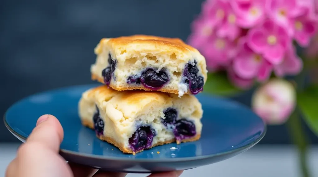
M 66 86 L 66 87 L 59 87 L 59 88 L 55 88 L 55 89 L 49 89 L 46 91 L 42 91 L 42 92 L 38 92 L 35 94 L 31 94 L 27 97 L 21 98 L 20 100 L 18 100 L 17 102 L 15 102 L 14 104 L 12 104 L 7 111 L 5 111 L 4 115 L 3 115 L 3 122 L 4 125 L 6 126 L 6 128 L 14 135 L 17 136 L 19 138 L 21 138 L 22 140 L 26 141 L 27 137 L 22 136 L 20 134 L 18 134 L 15 130 L 13 130 L 12 127 L 10 127 L 10 125 L 7 123 L 6 121 L 6 115 L 8 113 L 8 111 L 10 111 L 10 109 L 12 107 L 14 107 L 16 104 L 20 103 L 21 101 L 30 98 L 32 96 L 36 96 L 36 95 L 40 95 L 46 92 L 52 92 L 52 91 L 59 91 L 59 90 L 65 90 L 65 89 L 71 89 L 71 88 L 76 88 L 76 87 L 80 87 L 80 86 L 96 86 L 98 84 L 86 84 L 86 85 L 72 85 L 72 86 Z M 201 93 L 202 94 L 202 93 Z M 204 94 L 204 93 L 203 93 Z M 213 95 L 216 97 L 219 97 L 217 95 Z M 222 99 L 225 99 L 226 101 L 231 101 L 234 102 L 235 104 L 239 104 L 239 106 L 244 107 L 245 109 L 248 109 L 248 107 L 244 104 L 241 104 L 237 101 L 234 100 L 229 100 L 223 97 L 219 97 Z M 148 158 L 141 158 L 141 159 L 130 159 L 130 158 L 125 158 L 125 157 L 110 157 L 110 156 L 105 156 L 105 155 L 94 155 L 94 154 L 86 154 L 86 153 L 80 153 L 80 152 L 75 152 L 75 151 L 71 151 L 71 150 L 66 150 L 66 149 L 59 149 L 59 153 L 65 153 L 65 154 L 69 154 L 69 155 L 75 155 L 75 156 L 81 156 L 84 158 L 94 158 L 94 159 L 100 159 L 100 160 L 110 160 L 110 161 L 134 161 L 134 162 L 173 162 L 173 161 L 193 161 L 193 160 L 202 160 L 202 159 L 209 159 L 209 158 L 213 158 L 216 156 L 222 156 L 222 155 L 229 155 L 229 154 L 234 154 L 236 152 L 240 152 L 240 151 L 246 151 L 250 148 L 252 148 L 254 145 L 256 145 L 258 142 L 260 142 L 264 136 L 266 135 L 267 132 L 267 126 L 266 123 L 263 119 L 261 119 L 259 116 L 257 116 L 263 123 L 263 132 L 262 134 L 259 135 L 259 137 L 257 139 L 255 139 L 253 142 L 250 142 L 240 148 L 237 149 L 233 149 L 233 150 L 228 150 L 225 152 L 221 152 L 221 153 L 216 153 L 216 154 L 210 154 L 210 155 L 201 155 L 201 156 L 194 156 L 194 157 L 176 157 L 176 158 L 172 158 L 172 159 L 168 159 L 168 158 L 164 158 L 164 159 L 148 159 Z M 21 141 L 21 140 L 20 140 Z M 23 142 L 23 141 L 22 141 Z M 24 143 L 24 142 L 23 142 Z

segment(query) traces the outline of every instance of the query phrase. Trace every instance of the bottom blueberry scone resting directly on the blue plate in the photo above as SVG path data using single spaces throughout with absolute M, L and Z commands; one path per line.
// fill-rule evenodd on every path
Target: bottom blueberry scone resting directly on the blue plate
M 196 141 L 201 136 L 202 107 L 193 95 L 147 91 L 89 89 L 79 101 L 83 125 L 124 153 L 171 142 Z

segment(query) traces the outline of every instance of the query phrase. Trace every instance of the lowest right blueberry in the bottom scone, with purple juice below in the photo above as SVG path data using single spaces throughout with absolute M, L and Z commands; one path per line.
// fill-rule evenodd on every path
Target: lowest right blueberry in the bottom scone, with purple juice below
M 196 126 L 194 123 L 186 119 L 177 120 L 175 125 L 176 127 L 173 130 L 173 133 L 177 139 L 183 139 L 185 137 L 196 135 Z

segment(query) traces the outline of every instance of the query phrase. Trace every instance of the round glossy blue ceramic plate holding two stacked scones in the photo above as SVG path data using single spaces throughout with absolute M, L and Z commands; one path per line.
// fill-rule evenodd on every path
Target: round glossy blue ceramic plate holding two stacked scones
M 197 95 L 204 110 L 199 141 L 166 144 L 136 155 L 123 154 L 80 123 L 79 98 L 94 86 L 97 85 L 72 86 L 24 98 L 9 108 L 4 123 L 24 142 L 38 117 L 52 114 L 64 128 L 60 154 L 67 161 L 128 173 L 183 170 L 223 161 L 254 146 L 266 132 L 263 121 L 247 107 L 201 93 Z

